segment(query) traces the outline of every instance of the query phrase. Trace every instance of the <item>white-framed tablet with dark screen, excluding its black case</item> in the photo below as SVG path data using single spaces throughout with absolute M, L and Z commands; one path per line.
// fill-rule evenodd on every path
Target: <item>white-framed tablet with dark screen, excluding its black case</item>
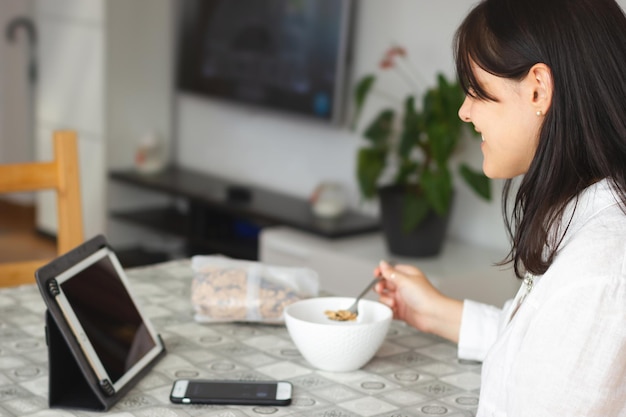
M 109 249 L 63 272 L 57 283 L 59 306 L 87 360 L 116 391 L 162 350 Z

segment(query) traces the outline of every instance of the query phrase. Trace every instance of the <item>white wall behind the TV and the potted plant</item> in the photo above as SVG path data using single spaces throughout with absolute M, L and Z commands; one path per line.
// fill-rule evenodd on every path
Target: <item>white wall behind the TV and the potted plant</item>
M 353 79 L 375 70 L 392 44 L 406 47 L 425 83 L 434 83 L 438 71 L 452 76 L 453 34 L 473 3 L 362 0 L 355 19 Z M 390 89 L 404 88 L 394 81 L 385 79 Z M 178 152 L 183 165 L 302 197 L 320 181 L 332 179 L 349 189 L 352 204 L 358 206 L 355 155 L 364 142 L 347 127 L 325 126 L 189 95 L 180 95 L 178 106 Z M 478 143 L 468 143 L 465 148 L 464 154 L 480 167 Z M 499 184 L 495 186 L 498 194 Z M 450 233 L 462 240 L 505 247 L 499 198 L 486 204 L 464 185 L 458 188 Z

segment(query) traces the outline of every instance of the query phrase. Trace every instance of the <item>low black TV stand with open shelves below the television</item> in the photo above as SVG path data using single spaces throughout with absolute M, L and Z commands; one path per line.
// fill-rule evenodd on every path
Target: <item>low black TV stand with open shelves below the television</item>
M 184 210 L 172 205 L 116 211 L 112 215 L 184 237 L 188 256 L 220 253 L 256 260 L 258 232 L 267 226 L 289 226 L 331 239 L 379 230 L 377 219 L 355 211 L 334 220 L 321 219 L 312 213 L 305 199 L 177 166 L 154 174 L 115 170 L 110 178 L 183 199 Z

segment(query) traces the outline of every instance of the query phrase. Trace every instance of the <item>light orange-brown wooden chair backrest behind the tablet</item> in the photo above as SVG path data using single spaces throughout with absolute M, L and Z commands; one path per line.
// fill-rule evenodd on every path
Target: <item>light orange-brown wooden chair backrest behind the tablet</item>
M 52 161 L 0 165 L 0 193 L 56 191 L 57 253 L 61 255 L 83 242 L 83 216 L 76 133 L 58 131 L 53 139 Z M 0 287 L 34 283 L 35 270 L 49 261 L 0 263 Z

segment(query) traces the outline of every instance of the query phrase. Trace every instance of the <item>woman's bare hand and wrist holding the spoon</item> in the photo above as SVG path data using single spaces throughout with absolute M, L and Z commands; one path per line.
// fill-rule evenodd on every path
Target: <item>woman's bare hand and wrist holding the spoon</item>
M 375 290 L 379 301 L 393 310 L 394 318 L 420 331 L 458 342 L 462 301 L 441 294 L 420 269 L 411 265 L 392 267 L 381 261 L 374 274 L 384 278 Z

